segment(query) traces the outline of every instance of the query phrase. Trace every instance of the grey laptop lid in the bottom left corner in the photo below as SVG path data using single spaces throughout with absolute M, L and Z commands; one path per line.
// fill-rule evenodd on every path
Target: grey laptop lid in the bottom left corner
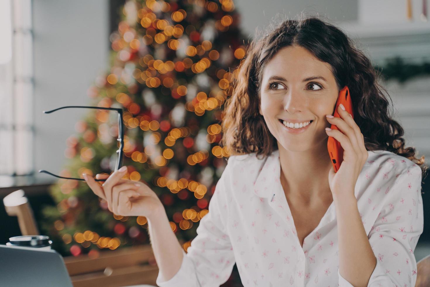
M 0 286 L 73 287 L 63 257 L 57 251 L 2 244 Z

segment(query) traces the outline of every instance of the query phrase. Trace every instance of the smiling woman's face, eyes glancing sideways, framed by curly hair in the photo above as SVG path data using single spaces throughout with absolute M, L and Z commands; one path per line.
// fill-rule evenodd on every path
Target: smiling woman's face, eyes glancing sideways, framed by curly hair
M 280 49 L 264 68 L 260 93 L 260 114 L 278 144 L 290 151 L 326 144 L 326 114 L 333 114 L 339 93 L 328 63 L 300 46 Z M 283 120 L 312 122 L 290 133 Z

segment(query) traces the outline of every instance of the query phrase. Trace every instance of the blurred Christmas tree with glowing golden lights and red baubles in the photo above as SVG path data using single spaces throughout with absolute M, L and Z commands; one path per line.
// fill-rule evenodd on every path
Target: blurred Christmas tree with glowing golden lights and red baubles
M 229 156 L 219 123 L 249 43 L 239 21 L 231 0 L 127 1 L 110 36 L 110 71 L 88 91 L 89 105 L 124 109 L 124 178 L 159 195 L 185 250 Z M 89 109 L 76 131 L 61 176 L 110 174 L 117 113 Z M 112 214 L 85 182 L 60 179 L 50 194 L 57 206 L 44 208 L 40 226 L 63 256 L 150 244 L 146 218 Z

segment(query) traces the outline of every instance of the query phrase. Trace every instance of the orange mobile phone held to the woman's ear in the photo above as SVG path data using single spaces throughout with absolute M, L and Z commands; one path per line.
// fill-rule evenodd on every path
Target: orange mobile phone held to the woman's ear
M 339 91 L 335 113 L 332 114 L 333 117 L 341 117 L 338 113 L 338 108 L 340 104 L 344 105 L 345 110 L 351 114 L 352 118 L 354 118 L 352 101 L 348 86 L 344 86 L 344 88 Z M 330 128 L 332 130 L 339 130 L 338 127 L 336 127 L 335 125 L 332 125 Z M 332 165 L 335 169 L 335 173 L 337 173 L 344 159 L 344 149 L 342 148 L 340 142 L 338 142 L 332 136 L 329 136 L 329 140 L 327 142 L 327 149 L 329 151 L 330 159 L 332 160 Z

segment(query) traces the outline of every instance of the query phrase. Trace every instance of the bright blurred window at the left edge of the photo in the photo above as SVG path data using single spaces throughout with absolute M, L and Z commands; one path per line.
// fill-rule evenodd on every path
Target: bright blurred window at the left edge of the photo
M 0 1 L 0 39 L 2 184 L 10 176 L 28 175 L 34 170 L 31 0 Z

